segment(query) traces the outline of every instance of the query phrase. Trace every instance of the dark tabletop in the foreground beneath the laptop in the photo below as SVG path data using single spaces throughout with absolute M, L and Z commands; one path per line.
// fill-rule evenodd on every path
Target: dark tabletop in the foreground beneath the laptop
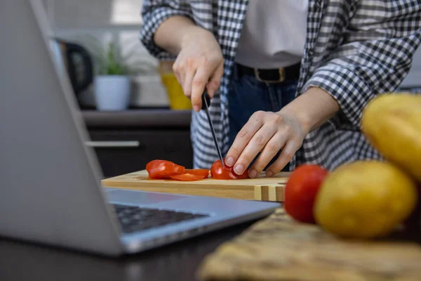
M 197 281 L 203 258 L 255 221 L 224 228 L 140 254 L 102 256 L 0 239 L 0 280 Z

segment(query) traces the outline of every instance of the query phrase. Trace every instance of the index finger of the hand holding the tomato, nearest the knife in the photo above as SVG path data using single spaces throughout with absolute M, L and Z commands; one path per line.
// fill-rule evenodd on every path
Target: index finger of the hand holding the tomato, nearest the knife
M 229 148 L 229 151 L 227 152 L 227 157 L 225 161 L 228 166 L 234 165 L 237 159 L 239 159 L 241 153 L 243 152 L 244 148 L 246 148 L 251 138 L 253 138 L 253 136 L 255 136 L 255 133 L 257 133 L 262 127 L 264 117 L 265 117 L 265 112 L 262 112 L 262 111 L 255 112 L 253 115 L 251 115 L 250 119 L 248 119 L 248 122 L 239 131 L 239 133 L 237 134 L 234 140 L 234 143 L 232 143 L 231 148 Z M 237 166 L 237 165 L 238 164 L 236 164 L 236 167 L 234 167 L 234 171 L 236 173 L 237 173 L 237 170 L 244 171 L 245 169 L 247 169 L 247 166 L 243 166 L 244 164 L 241 164 L 241 166 Z M 237 173 L 237 174 L 242 174 L 242 173 Z

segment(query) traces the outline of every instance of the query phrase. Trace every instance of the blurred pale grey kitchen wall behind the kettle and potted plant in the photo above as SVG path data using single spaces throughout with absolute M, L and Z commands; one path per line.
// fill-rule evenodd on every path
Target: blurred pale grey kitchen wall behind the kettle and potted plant
M 53 36 L 91 45 L 92 38 L 104 44 L 113 41 L 123 53 L 133 52 L 138 74 L 133 75 L 131 104 L 168 106 L 166 91 L 152 58 L 138 39 L 142 0 L 42 0 Z M 134 65 L 134 63 L 133 63 Z M 80 96 L 83 104 L 94 105 L 93 89 Z

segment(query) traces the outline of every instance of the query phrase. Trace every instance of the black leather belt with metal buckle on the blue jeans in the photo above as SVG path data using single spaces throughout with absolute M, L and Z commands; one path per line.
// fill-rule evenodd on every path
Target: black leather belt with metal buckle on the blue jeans
M 247 67 L 238 63 L 236 64 L 236 67 L 240 77 L 244 74 L 251 75 L 256 77 L 258 81 L 265 83 L 281 83 L 283 81 L 297 80 L 300 78 L 300 63 L 272 70 Z

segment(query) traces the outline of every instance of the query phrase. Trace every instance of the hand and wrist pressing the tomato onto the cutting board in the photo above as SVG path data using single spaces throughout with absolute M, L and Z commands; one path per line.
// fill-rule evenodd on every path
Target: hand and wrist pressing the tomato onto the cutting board
M 255 112 L 236 136 L 226 163 L 234 166 L 236 174 L 242 174 L 261 152 L 248 171 L 248 176 L 255 178 L 282 150 L 266 171 L 266 176 L 273 176 L 290 162 L 309 131 L 321 126 L 339 110 L 338 102 L 330 93 L 311 87 L 279 112 Z

